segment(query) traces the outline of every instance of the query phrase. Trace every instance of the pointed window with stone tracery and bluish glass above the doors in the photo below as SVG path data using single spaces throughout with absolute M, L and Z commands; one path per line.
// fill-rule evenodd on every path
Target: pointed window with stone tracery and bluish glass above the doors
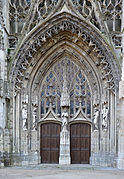
M 67 62 L 66 62 L 67 61 Z M 64 71 L 67 68 L 67 85 L 64 85 L 65 75 Z M 68 100 L 65 93 L 62 93 L 63 86 L 69 91 Z M 63 97 L 62 94 L 65 96 Z M 61 116 L 61 106 L 66 105 L 65 100 L 60 105 L 61 98 L 68 101 L 70 106 L 70 117 L 74 117 L 79 109 L 79 100 L 81 98 L 81 106 L 83 112 L 90 117 L 91 115 L 91 92 L 89 85 L 82 70 L 79 69 L 74 62 L 68 59 L 62 60 L 56 64 L 48 73 L 48 76 L 43 82 L 41 92 L 41 114 L 48 112 L 50 107 L 50 100 L 52 100 L 52 108 L 54 112 Z M 70 101 L 70 102 L 69 102 Z

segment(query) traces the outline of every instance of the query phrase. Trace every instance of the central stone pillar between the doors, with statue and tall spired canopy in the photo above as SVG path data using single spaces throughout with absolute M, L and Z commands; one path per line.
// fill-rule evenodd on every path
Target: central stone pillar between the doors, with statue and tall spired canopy
M 70 132 L 68 130 L 70 97 L 68 93 L 66 70 L 63 74 L 63 92 L 61 96 L 62 130 L 60 133 L 60 157 L 59 164 L 70 164 Z

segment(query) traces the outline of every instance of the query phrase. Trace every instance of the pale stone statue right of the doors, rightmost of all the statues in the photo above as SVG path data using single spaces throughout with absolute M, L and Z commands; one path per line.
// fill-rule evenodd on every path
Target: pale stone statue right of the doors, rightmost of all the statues
M 104 105 L 102 109 L 102 126 L 104 129 L 108 127 L 108 108 Z

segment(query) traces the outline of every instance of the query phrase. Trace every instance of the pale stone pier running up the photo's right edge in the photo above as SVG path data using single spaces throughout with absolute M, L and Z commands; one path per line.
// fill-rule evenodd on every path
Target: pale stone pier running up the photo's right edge
M 124 0 L 123 6 L 124 9 Z M 122 16 L 122 78 L 119 84 L 120 98 L 120 126 L 119 126 L 119 141 L 118 141 L 118 168 L 124 169 L 124 11 Z

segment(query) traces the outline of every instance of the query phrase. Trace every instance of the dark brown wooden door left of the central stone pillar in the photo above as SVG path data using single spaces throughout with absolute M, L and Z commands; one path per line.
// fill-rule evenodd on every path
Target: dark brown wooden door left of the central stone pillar
M 41 163 L 59 163 L 60 125 L 41 125 Z

